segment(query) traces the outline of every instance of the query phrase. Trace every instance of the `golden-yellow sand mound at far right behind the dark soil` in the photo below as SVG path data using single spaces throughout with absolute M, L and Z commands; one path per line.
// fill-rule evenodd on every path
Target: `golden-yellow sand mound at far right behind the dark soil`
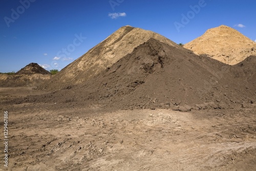
M 208 54 L 228 65 L 235 65 L 250 55 L 256 55 L 256 44 L 235 29 L 220 26 L 184 45 L 197 54 Z

